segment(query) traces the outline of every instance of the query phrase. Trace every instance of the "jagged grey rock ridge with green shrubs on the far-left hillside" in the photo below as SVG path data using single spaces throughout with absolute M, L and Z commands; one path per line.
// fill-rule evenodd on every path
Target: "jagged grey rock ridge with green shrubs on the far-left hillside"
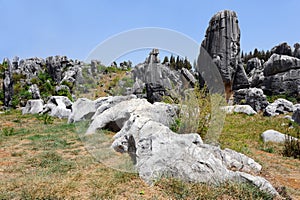
M 73 61 L 66 56 L 50 56 L 46 59 L 29 58 L 19 61 L 18 57 L 13 58 L 12 63 L 5 58 L 6 65 L 3 77 L 4 106 L 11 107 L 12 97 L 14 95 L 14 84 L 20 84 L 21 88 L 29 88 L 32 99 L 40 99 L 40 88 L 34 79 L 39 78 L 40 73 L 50 76 L 56 85 L 55 92 L 58 94 L 61 90 L 72 93 L 75 84 L 81 84 L 84 81 L 82 69 L 84 63 Z M 18 77 L 18 80 L 14 80 Z M 14 83 L 15 81 L 18 81 Z M 43 80 L 45 81 L 45 80 Z M 44 84 L 44 83 L 43 83 Z

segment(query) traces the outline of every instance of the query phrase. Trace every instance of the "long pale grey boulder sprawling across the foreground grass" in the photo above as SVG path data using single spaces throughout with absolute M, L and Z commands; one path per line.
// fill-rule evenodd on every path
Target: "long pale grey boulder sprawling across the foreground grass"
M 97 132 L 100 129 L 116 131 L 108 140 L 111 147 L 116 152 L 128 153 L 140 177 L 150 185 L 163 177 L 210 184 L 247 182 L 277 195 L 266 179 L 249 174 L 261 170 L 253 159 L 203 144 L 198 134 L 172 132 L 169 126 L 176 116 L 174 105 L 130 99 L 95 113 L 85 135 L 101 135 Z M 93 148 L 89 146 L 90 150 Z

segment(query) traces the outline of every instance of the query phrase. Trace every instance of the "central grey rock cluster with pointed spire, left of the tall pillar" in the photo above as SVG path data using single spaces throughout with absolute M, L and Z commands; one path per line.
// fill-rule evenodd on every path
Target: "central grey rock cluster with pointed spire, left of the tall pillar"
M 161 64 L 158 55 L 159 50 L 153 49 L 146 61 L 131 71 L 134 80 L 132 94 L 146 97 L 151 103 L 162 101 L 164 96 L 175 99 L 178 93 L 197 82 L 189 70 L 171 70 L 166 64 Z

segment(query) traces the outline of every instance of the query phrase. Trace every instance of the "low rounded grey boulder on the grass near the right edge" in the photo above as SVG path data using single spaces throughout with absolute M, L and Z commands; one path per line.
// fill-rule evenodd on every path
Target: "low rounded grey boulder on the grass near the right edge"
M 293 108 L 294 106 L 292 102 L 286 99 L 277 99 L 266 107 L 264 115 L 276 116 L 279 114 L 285 114 L 288 112 L 293 112 Z

